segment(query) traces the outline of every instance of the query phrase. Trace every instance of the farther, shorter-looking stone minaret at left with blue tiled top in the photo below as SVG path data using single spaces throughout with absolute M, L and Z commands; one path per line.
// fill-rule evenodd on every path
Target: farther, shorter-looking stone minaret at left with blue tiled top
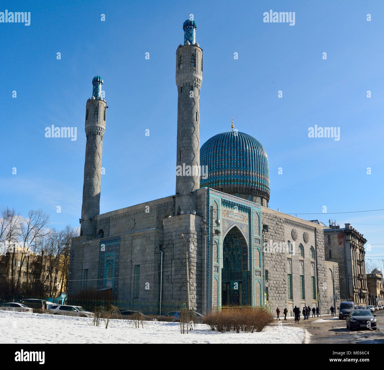
M 80 235 L 96 235 L 94 217 L 100 213 L 101 157 L 107 103 L 101 97 L 103 79 L 92 80 L 93 94 L 87 101 L 85 113 L 85 148 L 83 206 L 81 207 Z

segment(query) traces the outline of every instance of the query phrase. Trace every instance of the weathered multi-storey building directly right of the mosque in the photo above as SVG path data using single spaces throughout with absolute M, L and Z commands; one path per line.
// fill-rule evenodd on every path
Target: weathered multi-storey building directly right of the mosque
M 329 222 L 324 228 L 324 249 L 327 260 L 339 265 L 340 298 L 359 305 L 368 304 L 368 287 L 365 269 L 367 240 L 351 224 L 341 228 Z

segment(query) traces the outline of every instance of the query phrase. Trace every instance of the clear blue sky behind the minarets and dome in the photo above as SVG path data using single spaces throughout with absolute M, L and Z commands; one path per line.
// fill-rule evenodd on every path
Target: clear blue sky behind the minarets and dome
M 384 208 L 381 0 L 12 1 L 0 7 L 31 13 L 29 26 L 0 23 L 1 209 L 26 215 L 41 207 L 52 226 L 79 225 L 85 107 L 97 74 L 109 106 L 100 212 L 174 194 L 175 51 L 193 14 L 204 49 L 201 143 L 230 130 L 233 115 L 235 128 L 257 138 L 268 154 L 271 208 L 325 224 L 349 222 L 372 246 L 366 259 L 384 259 L 384 211 L 332 213 Z M 295 25 L 264 23 L 270 10 L 295 12 Z M 51 125 L 76 127 L 77 140 L 46 138 Z M 339 128 L 339 140 L 309 138 L 315 125 Z

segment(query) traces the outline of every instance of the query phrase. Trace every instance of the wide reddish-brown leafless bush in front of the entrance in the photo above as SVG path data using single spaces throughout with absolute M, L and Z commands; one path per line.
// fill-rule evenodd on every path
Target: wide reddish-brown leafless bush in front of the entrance
M 270 312 L 263 309 L 234 308 L 210 312 L 204 317 L 203 323 L 210 326 L 212 331 L 225 333 L 229 331 L 261 332 L 273 322 Z

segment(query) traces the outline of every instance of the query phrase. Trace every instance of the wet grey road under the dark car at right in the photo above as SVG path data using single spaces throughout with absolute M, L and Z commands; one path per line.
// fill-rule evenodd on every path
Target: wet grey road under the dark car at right
M 376 311 L 377 330 L 364 330 L 364 331 L 349 331 L 346 327 L 346 320 L 339 320 L 339 317 L 323 316 L 313 317 L 308 320 L 303 320 L 301 316 L 300 321 L 295 323 L 294 320 L 282 320 L 283 325 L 296 326 L 305 328 L 310 334 L 310 344 L 317 343 L 384 343 L 384 333 L 381 334 L 379 327 L 384 329 L 384 310 Z M 308 342 L 308 341 L 307 341 Z

